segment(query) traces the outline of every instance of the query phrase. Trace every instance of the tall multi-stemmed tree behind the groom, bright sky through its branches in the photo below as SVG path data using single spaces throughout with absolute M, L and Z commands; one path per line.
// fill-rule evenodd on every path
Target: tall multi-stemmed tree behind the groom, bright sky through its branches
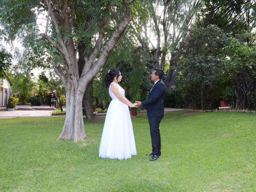
M 182 50 L 180 44 L 184 41 L 194 15 L 200 8 L 200 2 L 201 0 L 150 1 L 145 3 L 145 6 L 149 7 L 149 22 L 147 20 L 135 21 L 137 38 L 144 46 L 149 62 L 162 70 L 164 70 L 166 60 L 168 62 L 169 70 L 165 79 L 167 86 L 173 84 L 178 73 L 176 65 L 180 60 Z M 142 27 L 139 27 L 140 25 Z M 152 36 L 148 34 L 148 28 L 156 35 L 156 44 L 150 40 Z

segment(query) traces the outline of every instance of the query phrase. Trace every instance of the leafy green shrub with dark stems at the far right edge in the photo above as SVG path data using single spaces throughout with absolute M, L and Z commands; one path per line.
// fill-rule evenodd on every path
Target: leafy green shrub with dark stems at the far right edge
M 230 46 L 230 59 L 227 62 L 226 73 L 230 74 L 238 98 L 236 108 L 254 108 L 256 91 L 256 45 L 238 44 Z

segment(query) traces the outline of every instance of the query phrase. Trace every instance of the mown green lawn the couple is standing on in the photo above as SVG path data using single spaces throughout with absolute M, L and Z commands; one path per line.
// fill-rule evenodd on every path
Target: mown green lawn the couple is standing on
M 77 143 L 56 140 L 64 117 L 0 121 L 0 192 L 256 191 L 255 114 L 166 113 L 155 162 L 145 113 L 132 117 L 138 155 L 128 160 L 98 158 L 104 116 Z

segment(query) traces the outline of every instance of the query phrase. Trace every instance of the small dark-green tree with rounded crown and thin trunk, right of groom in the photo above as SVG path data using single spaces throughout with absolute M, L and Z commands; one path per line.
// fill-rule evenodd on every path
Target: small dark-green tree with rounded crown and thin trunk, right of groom
M 204 108 L 204 88 L 212 84 L 225 62 L 222 48 L 228 43 L 226 35 L 215 25 L 206 28 L 194 25 L 184 43 L 183 60 L 179 69 L 187 81 L 200 87 L 201 108 Z

